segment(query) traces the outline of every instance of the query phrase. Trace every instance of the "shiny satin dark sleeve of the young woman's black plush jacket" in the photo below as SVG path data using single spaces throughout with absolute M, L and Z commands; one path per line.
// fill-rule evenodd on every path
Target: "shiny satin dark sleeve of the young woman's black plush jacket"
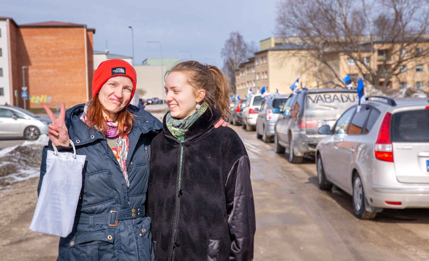
M 225 197 L 232 240 L 230 260 L 251 261 L 256 223 L 247 155 L 241 156 L 233 164 L 225 184 Z

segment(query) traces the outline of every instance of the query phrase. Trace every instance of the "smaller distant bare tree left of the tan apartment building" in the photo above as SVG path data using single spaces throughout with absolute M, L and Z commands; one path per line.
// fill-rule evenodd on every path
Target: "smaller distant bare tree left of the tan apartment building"
M 239 69 L 240 63 L 244 63 L 257 50 L 255 43 L 245 42 L 238 31 L 231 32 L 230 38 L 225 41 L 221 56 L 224 58 L 224 70 L 227 72 L 234 93 L 236 92 L 236 69 Z

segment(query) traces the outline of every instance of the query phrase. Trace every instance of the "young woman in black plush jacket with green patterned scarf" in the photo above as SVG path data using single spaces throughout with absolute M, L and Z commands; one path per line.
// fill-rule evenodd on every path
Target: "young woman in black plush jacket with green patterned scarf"
M 163 130 L 151 142 L 148 216 L 155 257 L 253 260 L 250 162 L 237 133 L 213 128 L 229 113 L 230 85 L 216 67 L 186 61 L 166 78 Z

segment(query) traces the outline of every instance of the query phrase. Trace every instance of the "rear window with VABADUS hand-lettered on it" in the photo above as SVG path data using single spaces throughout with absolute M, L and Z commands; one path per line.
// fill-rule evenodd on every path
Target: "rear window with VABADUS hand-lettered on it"
M 357 93 L 308 93 L 305 109 L 317 111 L 336 111 L 349 108 L 358 101 Z

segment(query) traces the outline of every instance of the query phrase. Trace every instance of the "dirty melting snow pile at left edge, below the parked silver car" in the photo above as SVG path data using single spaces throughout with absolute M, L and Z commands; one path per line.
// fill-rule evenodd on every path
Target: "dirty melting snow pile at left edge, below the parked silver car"
M 0 189 L 10 184 L 39 177 L 43 146 L 49 138 L 42 134 L 36 141 L 0 150 Z

